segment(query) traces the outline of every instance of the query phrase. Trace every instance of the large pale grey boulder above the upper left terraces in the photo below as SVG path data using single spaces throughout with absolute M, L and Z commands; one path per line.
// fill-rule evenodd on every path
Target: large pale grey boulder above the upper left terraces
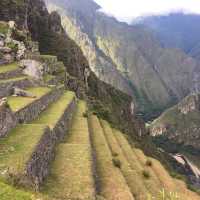
M 42 80 L 44 74 L 44 66 L 36 60 L 21 60 L 20 67 L 23 73 L 37 80 Z

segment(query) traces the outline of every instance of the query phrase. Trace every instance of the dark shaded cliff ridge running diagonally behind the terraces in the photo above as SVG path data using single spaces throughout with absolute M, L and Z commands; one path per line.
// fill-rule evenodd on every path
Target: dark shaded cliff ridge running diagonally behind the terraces
M 124 130 L 144 130 L 143 123 L 135 120 L 132 98 L 100 81 L 89 70 L 79 46 L 63 30 L 60 16 L 55 12 L 49 14 L 42 0 L 3 0 L 0 8 L 1 20 L 16 20 L 20 29 L 28 28 L 29 37 L 39 42 L 41 53 L 56 55 L 63 61 L 68 73 L 66 87 L 75 91 L 78 97 L 87 99 L 94 112 Z

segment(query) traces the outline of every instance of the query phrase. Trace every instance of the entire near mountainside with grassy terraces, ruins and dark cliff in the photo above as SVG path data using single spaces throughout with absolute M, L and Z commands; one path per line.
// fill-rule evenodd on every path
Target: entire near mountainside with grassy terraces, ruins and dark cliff
M 12 6 L 16 9 L 20 3 L 25 3 L 20 15 L 18 9 L 13 14 Z M 144 128 L 134 116 L 132 99 L 92 72 L 86 76 L 87 60 L 64 33 L 57 13 L 49 15 L 40 0 L 6 0 L 2 5 L 2 20 L 10 16 L 21 29 L 11 21 L 0 23 L 0 97 L 5 97 L 0 99 L 1 200 L 200 199 L 132 145 L 135 135 L 142 139 Z M 63 49 L 55 39 L 62 41 Z M 56 56 L 41 55 L 38 45 L 46 47 L 45 53 L 56 50 L 63 60 L 69 73 L 66 87 L 64 64 Z M 28 66 L 22 66 L 25 61 Z M 49 76 L 58 81 L 52 85 Z

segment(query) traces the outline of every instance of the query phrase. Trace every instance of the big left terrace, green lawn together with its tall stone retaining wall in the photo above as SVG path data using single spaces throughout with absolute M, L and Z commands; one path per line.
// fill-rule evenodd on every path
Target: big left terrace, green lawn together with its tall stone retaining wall
M 74 106 L 75 94 L 65 92 L 37 120 L 17 126 L 2 138 L 1 178 L 38 189 L 49 173 L 57 139 L 66 133 Z

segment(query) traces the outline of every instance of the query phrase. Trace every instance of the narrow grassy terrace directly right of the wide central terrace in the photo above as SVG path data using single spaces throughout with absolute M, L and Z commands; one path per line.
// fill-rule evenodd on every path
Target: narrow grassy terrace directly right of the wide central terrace
M 96 154 L 99 194 L 107 200 L 133 200 L 123 175 L 112 162 L 112 154 L 98 118 L 90 116 L 89 125 Z

